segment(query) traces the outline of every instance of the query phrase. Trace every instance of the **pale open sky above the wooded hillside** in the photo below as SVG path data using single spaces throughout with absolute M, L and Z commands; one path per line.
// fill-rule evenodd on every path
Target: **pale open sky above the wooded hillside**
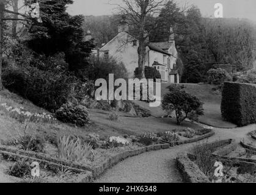
M 68 6 L 71 15 L 111 15 L 115 13 L 115 5 L 122 0 L 73 0 Z M 180 5 L 194 4 L 199 7 L 203 16 L 214 15 L 214 4 L 223 5 L 224 18 L 248 18 L 256 21 L 256 0 L 176 0 Z

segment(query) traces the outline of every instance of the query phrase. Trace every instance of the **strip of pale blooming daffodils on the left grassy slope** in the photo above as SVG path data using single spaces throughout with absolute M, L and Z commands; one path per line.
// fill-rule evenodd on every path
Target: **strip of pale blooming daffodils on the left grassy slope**
M 30 121 L 30 122 L 54 122 L 56 118 L 53 115 L 46 113 L 31 113 L 24 110 L 23 107 L 13 108 L 6 103 L 0 104 L 0 110 L 9 113 L 10 117 L 17 119 L 20 122 Z

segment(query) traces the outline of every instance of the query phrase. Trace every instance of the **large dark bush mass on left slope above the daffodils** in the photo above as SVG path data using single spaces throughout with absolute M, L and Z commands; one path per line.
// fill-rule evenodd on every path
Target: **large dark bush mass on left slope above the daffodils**
M 50 112 L 55 112 L 71 99 L 74 80 L 73 76 L 64 73 L 42 71 L 31 66 L 9 66 L 2 75 L 5 88 Z

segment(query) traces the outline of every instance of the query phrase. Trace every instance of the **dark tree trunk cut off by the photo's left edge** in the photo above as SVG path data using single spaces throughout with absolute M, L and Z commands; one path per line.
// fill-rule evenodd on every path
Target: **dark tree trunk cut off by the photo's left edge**
M 3 44 L 3 18 L 4 18 L 4 0 L 0 0 L 0 91 L 3 89 L 2 86 L 2 44 Z

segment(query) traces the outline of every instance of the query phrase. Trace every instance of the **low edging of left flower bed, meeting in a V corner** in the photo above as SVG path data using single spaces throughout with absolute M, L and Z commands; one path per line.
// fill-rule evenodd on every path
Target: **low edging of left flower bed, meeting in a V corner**
M 125 158 L 133 157 L 135 155 L 139 155 L 144 152 L 157 151 L 160 149 L 168 149 L 169 147 L 170 145 L 165 143 L 165 144 L 156 144 L 152 146 L 143 146 L 139 149 L 124 151 L 108 158 L 108 160 L 105 160 L 103 163 L 101 163 L 101 165 L 95 168 L 89 168 L 82 164 L 49 157 L 49 155 L 45 155 L 45 154 L 40 154 L 36 152 L 31 152 L 31 151 L 22 151 L 19 149 L 15 149 L 13 147 L 0 146 L 0 154 L 10 158 L 10 160 L 15 160 L 15 161 L 20 159 L 26 159 L 29 161 L 39 161 L 40 163 L 42 163 L 43 166 L 46 166 L 49 169 L 51 169 L 52 166 L 55 168 L 64 167 L 64 168 L 70 169 L 71 171 L 82 172 L 83 174 L 87 173 L 88 175 L 87 178 L 83 179 L 82 181 L 91 182 L 92 179 L 96 179 L 101 174 L 103 174 L 104 171 L 116 165 L 120 161 L 125 160 Z

